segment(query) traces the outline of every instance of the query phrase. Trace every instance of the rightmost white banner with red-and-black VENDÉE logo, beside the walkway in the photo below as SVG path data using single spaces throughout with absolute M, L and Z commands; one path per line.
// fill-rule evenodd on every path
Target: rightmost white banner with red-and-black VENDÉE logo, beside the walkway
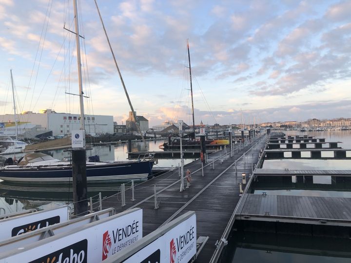
M 123 263 L 188 263 L 196 254 L 194 214 Z

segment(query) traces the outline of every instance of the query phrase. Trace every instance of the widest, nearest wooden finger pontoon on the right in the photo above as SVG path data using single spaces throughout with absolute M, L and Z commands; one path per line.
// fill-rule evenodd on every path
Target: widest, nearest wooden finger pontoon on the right
M 236 218 L 351 226 L 351 198 L 244 194 Z

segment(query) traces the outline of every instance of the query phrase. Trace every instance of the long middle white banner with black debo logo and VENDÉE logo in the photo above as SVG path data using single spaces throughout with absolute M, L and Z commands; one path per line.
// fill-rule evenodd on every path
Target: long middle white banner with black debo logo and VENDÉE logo
M 131 209 L 0 254 L 0 263 L 97 263 L 142 238 L 142 210 Z

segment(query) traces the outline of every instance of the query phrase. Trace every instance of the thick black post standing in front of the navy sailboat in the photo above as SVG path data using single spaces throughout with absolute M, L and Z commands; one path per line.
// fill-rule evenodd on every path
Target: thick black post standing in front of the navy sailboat
M 85 150 L 72 150 L 72 176 L 74 214 L 85 215 L 88 213 Z

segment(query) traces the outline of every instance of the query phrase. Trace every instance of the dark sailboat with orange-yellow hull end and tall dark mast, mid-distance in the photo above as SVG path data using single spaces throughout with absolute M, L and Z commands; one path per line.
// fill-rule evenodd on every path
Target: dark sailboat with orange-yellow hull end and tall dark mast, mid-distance
M 200 149 L 200 141 L 195 140 L 195 116 L 194 116 L 194 98 L 193 98 L 193 82 L 192 82 L 192 72 L 191 72 L 191 63 L 190 63 L 190 48 L 189 40 L 187 40 L 187 51 L 188 51 L 188 62 L 189 62 L 189 76 L 190 76 L 190 94 L 192 101 L 192 116 L 193 116 L 193 132 L 190 134 L 189 139 L 182 139 L 182 146 L 187 150 Z M 216 149 L 221 146 L 229 145 L 229 140 L 227 139 L 206 139 L 205 146 L 207 149 Z M 168 142 L 163 143 L 159 146 L 163 150 L 179 150 L 180 149 L 180 139 L 176 138 L 171 140 L 169 138 Z

